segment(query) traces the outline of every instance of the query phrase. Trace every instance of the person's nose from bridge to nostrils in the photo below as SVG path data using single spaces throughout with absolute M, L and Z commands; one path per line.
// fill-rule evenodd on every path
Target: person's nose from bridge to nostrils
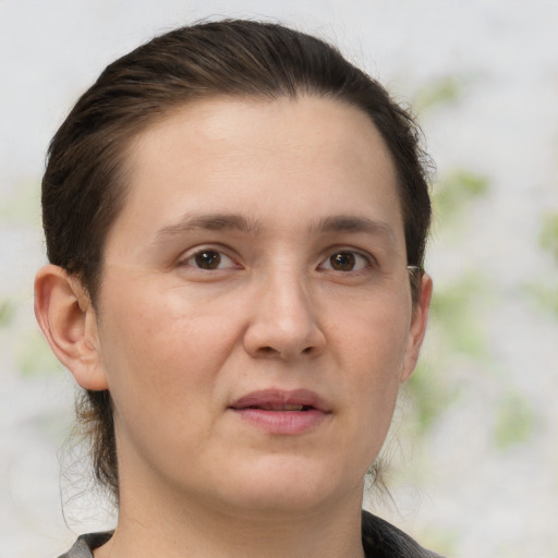
M 288 274 L 267 278 L 254 296 L 244 349 L 255 359 L 315 357 L 326 337 L 303 281 Z

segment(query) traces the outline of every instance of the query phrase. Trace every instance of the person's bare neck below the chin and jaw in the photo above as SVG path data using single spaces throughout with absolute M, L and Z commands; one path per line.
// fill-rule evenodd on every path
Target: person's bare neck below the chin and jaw
M 307 510 L 238 510 L 141 492 L 121 498 L 113 537 L 96 558 L 362 558 L 362 487 Z M 122 495 L 124 496 L 124 495 Z M 145 502 L 148 502 L 148 506 Z

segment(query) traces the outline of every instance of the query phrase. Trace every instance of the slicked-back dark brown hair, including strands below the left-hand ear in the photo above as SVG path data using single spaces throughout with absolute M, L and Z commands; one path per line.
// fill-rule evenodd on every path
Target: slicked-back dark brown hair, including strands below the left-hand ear
M 196 99 L 317 96 L 367 114 L 397 170 L 408 264 L 423 269 L 432 209 L 428 158 L 409 111 L 331 45 L 272 23 L 225 20 L 155 37 L 108 65 L 56 133 L 43 179 L 43 225 L 50 263 L 77 277 L 95 305 L 108 231 L 125 202 L 134 137 Z M 421 275 L 411 274 L 413 303 Z M 85 390 L 77 420 L 99 483 L 118 504 L 111 398 Z

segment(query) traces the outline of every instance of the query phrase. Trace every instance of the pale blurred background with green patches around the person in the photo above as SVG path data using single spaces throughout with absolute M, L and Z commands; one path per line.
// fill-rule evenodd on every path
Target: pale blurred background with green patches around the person
M 113 521 L 59 452 L 74 388 L 33 316 L 48 142 L 107 63 L 215 16 L 335 41 L 438 167 L 429 333 L 366 506 L 449 557 L 558 557 L 558 2 L 0 0 L 0 558 Z

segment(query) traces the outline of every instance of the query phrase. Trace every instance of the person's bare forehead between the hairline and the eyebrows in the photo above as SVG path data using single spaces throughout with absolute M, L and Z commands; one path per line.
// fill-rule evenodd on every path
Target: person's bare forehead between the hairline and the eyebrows
M 396 170 L 380 134 L 361 110 L 327 98 L 195 101 L 142 132 L 128 167 L 116 229 L 133 218 L 153 235 L 149 229 L 184 214 L 233 213 L 264 229 L 307 230 L 336 214 L 363 214 L 393 221 L 402 234 Z

